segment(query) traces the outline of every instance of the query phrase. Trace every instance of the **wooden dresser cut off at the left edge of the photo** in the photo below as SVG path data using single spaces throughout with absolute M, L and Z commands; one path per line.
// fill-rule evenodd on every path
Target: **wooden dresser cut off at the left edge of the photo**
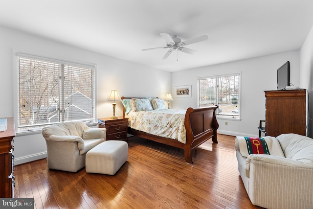
M 6 130 L 0 132 L 0 197 L 14 197 L 14 156 L 12 151 L 13 138 L 15 137 L 14 120 L 6 119 Z

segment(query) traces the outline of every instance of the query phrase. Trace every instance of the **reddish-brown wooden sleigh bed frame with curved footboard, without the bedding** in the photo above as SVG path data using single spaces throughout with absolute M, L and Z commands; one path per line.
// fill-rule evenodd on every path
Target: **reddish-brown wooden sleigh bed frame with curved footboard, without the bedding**
M 123 117 L 129 117 L 127 115 L 129 112 L 126 111 L 126 109 L 128 108 L 125 109 L 124 101 L 130 100 L 130 99 L 134 100 L 134 99 L 143 99 L 143 98 L 122 96 L 122 102 L 124 104 Z M 144 131 L 139 131 L 134 128 L 131 128 L 130 127 L 132 123 L 131 117 L 129 117 L 127 132 L 129 134 L 132 134 L 140 138 L 153 140 L 159 143 L 163 143 L 163 144 L 167 144 L 173 147 L 183 149 L 186 163 L 193 164 L 192 157 L 191 157 L 191 150 L 196 149 L 203 142 L 211 138 L 214 143 L 218 143 L 217 129 L 219 127 L 219 124 L 217 122 L 216 115 L 215 115 L 217 108 L 218 106 L 210 106 L 210 107 L 205 107 L 205 108 L 191 108 L 190 107 L 185 111 L 185 114 L 183 116 L 184 118 L 182 119 L 182 123 L 184 124 L 184 128 L 185 128 L 185 133 L 184 133 L 185 143 L 180 142 L 177 139 L 157 136 L 157 135 L 149 134 Z M 125 111 L 126 111 L 126 115 L 125 115 Z M 149 111 L 142 111 L 142 112 L 149 112 Z M 153 111 L 154 110 L 151 110 L 151 112 Z

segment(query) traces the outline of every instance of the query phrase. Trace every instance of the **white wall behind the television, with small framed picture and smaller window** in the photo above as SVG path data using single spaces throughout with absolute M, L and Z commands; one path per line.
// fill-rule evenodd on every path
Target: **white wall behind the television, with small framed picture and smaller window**
M 259 121 L 265 119 L 264 91 L 277 89 L 277 69 L 291 64 L 291 83 L 300 86 L 299 51 L 274 54 L 221 65 L 183 70 L 172 74 L 174 109 L 197 107 L 197 77 L 241 72 L 241 120 L 218 119 L 218 133 L 232 136 L 258 136 Z M 191 85 L 191 97 L 175 97 L 175 86 Z M 227 121 L 228 125 L 225 125 Z

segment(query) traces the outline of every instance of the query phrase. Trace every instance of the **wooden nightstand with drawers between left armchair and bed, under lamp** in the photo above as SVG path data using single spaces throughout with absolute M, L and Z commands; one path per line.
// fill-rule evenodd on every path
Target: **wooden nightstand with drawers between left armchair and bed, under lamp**
M 106 128 L 106 140 L 123 140 L 127 139 L 127 124 L 128 118 L 118 117 L 112 119 L 110 117 L 98 118 L 99 128 Z

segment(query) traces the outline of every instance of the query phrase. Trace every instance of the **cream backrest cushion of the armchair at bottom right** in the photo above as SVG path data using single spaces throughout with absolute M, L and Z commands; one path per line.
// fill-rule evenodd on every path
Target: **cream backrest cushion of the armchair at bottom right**
M 313 139 L 298 134 L 281 134 L 277 137 L 286 158 L 313 164 Z

